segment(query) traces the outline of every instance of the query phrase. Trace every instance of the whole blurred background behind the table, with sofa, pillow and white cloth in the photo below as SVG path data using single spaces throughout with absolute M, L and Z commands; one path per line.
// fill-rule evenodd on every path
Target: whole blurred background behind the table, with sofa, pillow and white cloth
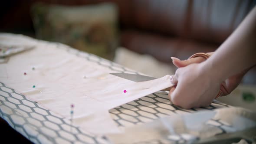
M 0 32 L 64 43 L 162 77 L 176 70 L 171 56 L 184 60 L 215 51 L 255 5 L 256 0 L 4 0 Z M 256 68 L 242 84 L 256 84 Z

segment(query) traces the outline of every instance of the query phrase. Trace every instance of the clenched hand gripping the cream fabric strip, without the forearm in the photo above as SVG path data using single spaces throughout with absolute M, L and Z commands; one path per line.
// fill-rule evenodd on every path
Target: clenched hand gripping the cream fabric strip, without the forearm
M 177 69 L 171 82 L 169 99 L 182 108 L 207 107 L 219 92 L 221 82 L 203 69 L 202 63 L 194 63 Z

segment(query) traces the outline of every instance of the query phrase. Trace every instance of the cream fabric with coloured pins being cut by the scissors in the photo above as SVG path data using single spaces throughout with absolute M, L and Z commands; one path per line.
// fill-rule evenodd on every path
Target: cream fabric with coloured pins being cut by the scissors
M 1 34 L 0 43 L 6 41 L 35 47 L 0 64 L 0 82 L 65 118 L 70 118 L 70 105 L 74 104 L 74 124 L 95 134 L 118 131 L 107 114 L 109 109 L 172 86 L 170 75 L 138 83 L 110 75 L 115 71 L 71 54 L 75 51 L 57 48 L 54 43 Z

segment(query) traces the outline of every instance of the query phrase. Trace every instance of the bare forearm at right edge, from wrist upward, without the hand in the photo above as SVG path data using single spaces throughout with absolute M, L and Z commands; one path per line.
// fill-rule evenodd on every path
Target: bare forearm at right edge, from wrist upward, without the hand
M 256 7 L 228 39 L 203 62 L 203 69 L 224 80 L 256 64 Z

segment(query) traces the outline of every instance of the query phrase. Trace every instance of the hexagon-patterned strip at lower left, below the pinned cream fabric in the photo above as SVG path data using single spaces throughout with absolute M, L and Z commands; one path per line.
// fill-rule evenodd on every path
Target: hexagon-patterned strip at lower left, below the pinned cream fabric
M 105 139 L 82 131 L 71 125 L 69 120 L 42 108 L 3 83 L 0 84 L 0 116 L 33 143 L 99 143 L 98 139 L 105 142 Z

